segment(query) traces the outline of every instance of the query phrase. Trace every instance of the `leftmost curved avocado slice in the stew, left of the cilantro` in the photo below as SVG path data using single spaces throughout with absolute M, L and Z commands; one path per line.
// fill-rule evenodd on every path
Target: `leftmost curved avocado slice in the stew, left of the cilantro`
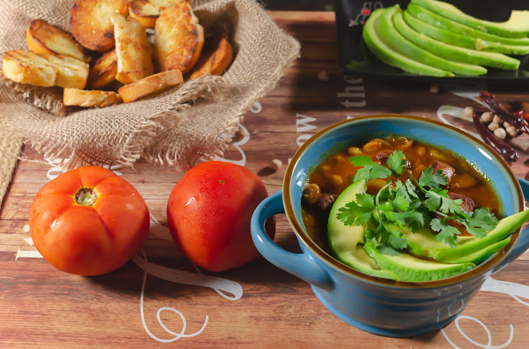
M 375 260 L 365 252 L 362 243 L 364 243 L 364 226 L 345 225 L 336 217 L 339 208 L 344 207 L 351 201 L 356 201 L 356 194 L 365 193 L 367 182 L 361 180 L 348 186 L 332 205 L 327 231 L 329 235 L 329 245 L 336 259 L 353 269 L 363 272 L 373 277 L 382 277 L 384 279 L 399 280 L 399 278 L 389 270 L 381 270 Z

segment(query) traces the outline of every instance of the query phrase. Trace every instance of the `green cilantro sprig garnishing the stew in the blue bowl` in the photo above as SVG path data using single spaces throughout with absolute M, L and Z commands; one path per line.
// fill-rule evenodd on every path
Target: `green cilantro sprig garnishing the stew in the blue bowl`
M 395 250 L 408 246 L 403 234 L 406 229 L 416 233 L 429 225 L 437 233 L 437 241 L 455 248 L 461 232 L 454 225 L 460 224 L 470 234 L 482 237 L 497 224 L 497 217 L 488 208 L 466 212 L 461 206 L 461 199 L 451 199 L 444 189 L 448 179 L 440 170 L 428 167 L 418 180 L 408 173 L 410 179 L 405 182 L 399 179 L 393 181 L 391 175 L 400 177 L 406 172 L 406 158 L 402 151 L 391 153 L 387 158 L 387 167 L 367 156 L 353 156 L 349 160 L 353 165 L 362 167 L 356 172 L 354 182 L 386 179 L 387 184 L 376 196 L 357 194 L 355 201 L 339 208 L 337 217 L 346 225 L 365 224 L 365 239 L 372 241 L 384 253 L 394 254 Z

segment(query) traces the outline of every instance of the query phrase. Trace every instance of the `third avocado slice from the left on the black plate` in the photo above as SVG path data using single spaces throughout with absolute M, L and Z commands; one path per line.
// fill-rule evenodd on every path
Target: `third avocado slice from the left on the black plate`
M 406 39 L 414 42 L 422 49 L 435 53 L 440 57 L 450 59 L 452 61 L 459 61 L 464 63 L 475 63 L 479 65 L 487 65 L 494 68 L 516 70 L 520 66 L 520 61 L 516 58 L 505 56 L 502 53 L 483 52 L 471 49 L 465 49 L 444 42 L 439 42 L 426 34 L 415 32 L 402 17 L 402 13 L 395 13 L 393 22 L 396 30 L 406 37 Z M 365 30 L 364 30 L 365 31 Z

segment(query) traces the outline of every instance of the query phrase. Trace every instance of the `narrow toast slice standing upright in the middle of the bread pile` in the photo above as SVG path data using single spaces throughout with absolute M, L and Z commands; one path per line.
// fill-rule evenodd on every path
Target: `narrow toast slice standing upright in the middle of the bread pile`
M 152 75 L 152 49 L 147 41 L 145 29 L 134 18 L 124 18 L 113 13 L 110 20 L 114 23 L 116 37 L 116 56 L 118 73 L 116 80 L 122 84 L 138 81 Z

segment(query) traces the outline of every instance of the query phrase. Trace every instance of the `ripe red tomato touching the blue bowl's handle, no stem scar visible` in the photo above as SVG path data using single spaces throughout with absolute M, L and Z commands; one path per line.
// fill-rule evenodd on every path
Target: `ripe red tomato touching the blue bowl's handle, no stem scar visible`
M 265 184 L 246 167 L 201 163 L 183 176 L 169 196 L 169 230 L 195 265 L 211 272 L 238 267 L 259 256 L 250 219 L 267 196 Z M 266 225 L 273 239 L 275 220 Z

